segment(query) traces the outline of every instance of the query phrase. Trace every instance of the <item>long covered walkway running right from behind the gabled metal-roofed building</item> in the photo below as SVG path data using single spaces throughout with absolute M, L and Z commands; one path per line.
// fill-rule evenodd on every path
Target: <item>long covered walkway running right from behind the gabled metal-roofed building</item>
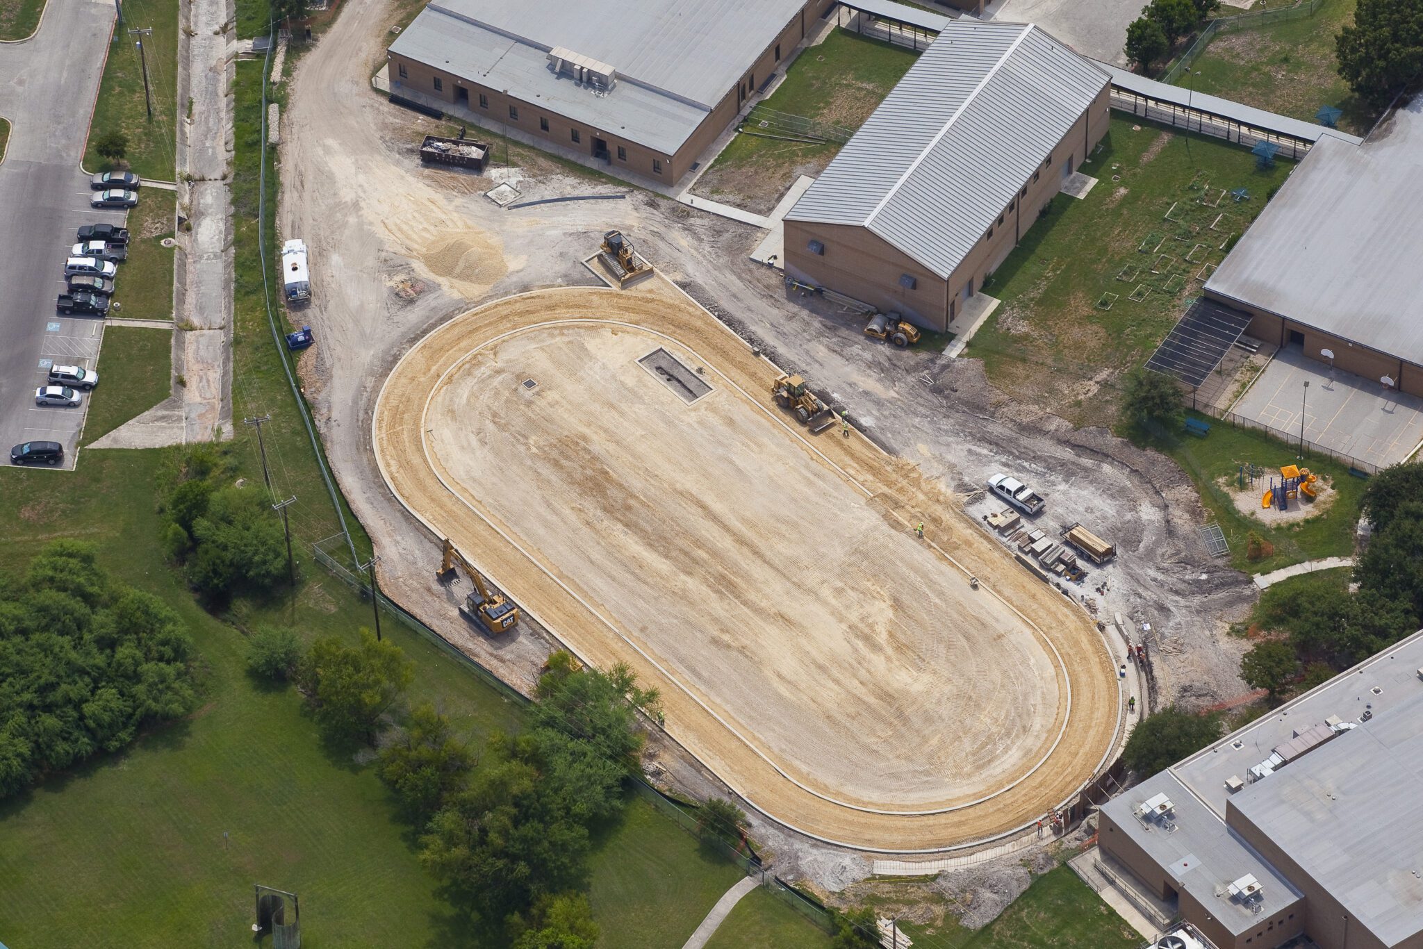
M 1099 65 L 1111 75 L 1111 107 L 1153 122 L 1224 138 L 1249 148 L 1254 148 L 1255 142 L 1271 141 L 1279 145 L 1282 158 L 1294 159 L 1303 158 L 1311 145 L 1325 137 L 1339 138 L 1352 145 L 1363 142 L 1362 138 L 1336 128 L 1148 80 L 1109 63 Z

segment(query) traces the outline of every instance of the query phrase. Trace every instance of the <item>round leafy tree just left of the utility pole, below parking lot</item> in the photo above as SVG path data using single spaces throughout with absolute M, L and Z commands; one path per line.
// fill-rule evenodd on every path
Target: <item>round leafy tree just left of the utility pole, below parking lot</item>
M 222 596 L 243 585 L 269 588 L 286 576 L 282 524 L 260 491 L 213 491 L 191 534 L 196 551 L 188 561 L 188 579 L 203 593 Z

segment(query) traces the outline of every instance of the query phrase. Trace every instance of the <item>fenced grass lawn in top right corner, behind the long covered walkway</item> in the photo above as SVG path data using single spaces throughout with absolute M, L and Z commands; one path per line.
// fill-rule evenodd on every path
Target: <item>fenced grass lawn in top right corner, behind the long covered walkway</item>
M 1355 0 L 1323 0 L 1312 17 L 1218 33 L 1177 85 L 1318 121 L 1321 105 L 1343 110 L 1339 128 L 1363 135 L 1373 111 L 1339 78 L 1335 36 L 1353 23 Z

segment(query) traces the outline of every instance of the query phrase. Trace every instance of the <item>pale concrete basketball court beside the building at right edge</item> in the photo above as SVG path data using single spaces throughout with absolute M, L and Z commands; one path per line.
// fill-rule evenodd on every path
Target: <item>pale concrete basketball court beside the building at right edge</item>
M 1309 388 L 1305 388 L 1305 381 Z M 1289 346 L 1235 405 L 1235 413 L 1380 468 L 1403 461 L 1423 441 L 1423 400 L 1385 391 L 1379 380 L 1331 370 Z

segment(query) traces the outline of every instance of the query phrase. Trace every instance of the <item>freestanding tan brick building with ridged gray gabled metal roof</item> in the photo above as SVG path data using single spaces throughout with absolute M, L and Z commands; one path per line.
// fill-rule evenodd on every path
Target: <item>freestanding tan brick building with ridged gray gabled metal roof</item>
M 1107 125 L 1091 60 L 955 20 L 791 208 L 785 272 L 943 330 Z

